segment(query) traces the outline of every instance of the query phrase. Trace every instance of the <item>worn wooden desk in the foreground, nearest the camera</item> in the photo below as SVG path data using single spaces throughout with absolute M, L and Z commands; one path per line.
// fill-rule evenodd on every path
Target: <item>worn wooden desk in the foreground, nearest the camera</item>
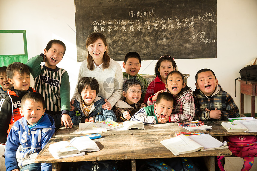
M 35 163 L 49 162 L 52 163 L 52 170 L 61 170 L 60 162 L 131 159 L 133 165 L 135 163 L 135 159 L 204 156 L 209 170 L 214 171 L 215 156 L 232 155 L 230 150 L 220 149 L 197 151 L 175 156 L 160 143 L 160 141 L 172 137 L 173 135 L 170 135 L 169 133 L 103 136 L 102 138 L 93 140 L 97 143 L 100 151 L 86 152 L 86 155 L 83 156 L 63 159 L 53 158 L 48 150 L 49 144 L 56 143 L 58 141 L 69 141 L 71 138 L 51 138 L 35 159 Z M 135 167 L 132 167 L 132 170 L 135 171 Z

